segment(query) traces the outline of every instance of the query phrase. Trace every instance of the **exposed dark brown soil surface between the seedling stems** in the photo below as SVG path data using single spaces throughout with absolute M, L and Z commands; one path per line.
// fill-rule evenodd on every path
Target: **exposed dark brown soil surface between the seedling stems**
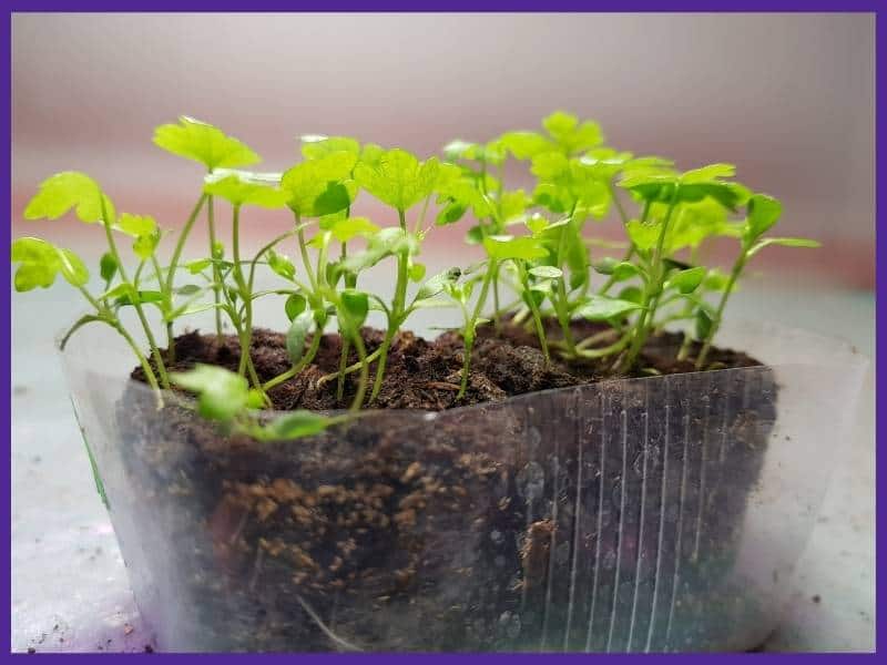
M 549 336 L 560 338 L 557 323 L 548 321 Z M 590 323 L 574 323 L 578 339 L 600 332 L 605 328 Z M 364 328 L 367 352 L 371 354 L 383 341 L 384 332 Z M 629 377 L 655 374 L 670 375 L 695 371 L 693 352 L 690 360 L 677 360 L 682 336 L 664 332 L 650 339 L 641 358 Z M 693 348 L 695 351 L 697 347 Z M 497 334 L 490 325 L 478 330 L 478 340 L 471 358 L 469 387 L 463 398 L 458 398 L 463 365 L 465 347 L 455 332 L 446 332 L 435 340 L 426 340 L 412 332 L 397 336 L 386 366 L 385 381 L 376 401 L 378 409 L 425 409 L 439 411 L 488 401 L 549 390 L 593 383 L 619 378 L 612 371 L 613 358 L 604 360 L 564 361 L 554 355 L 546 362 L 538 338 L 523 327 L 504 325 Z M 256 329 L 251 354 L 259 379 L 265 382 L 289 369 L 283 334 Z M 314 362 L 297 377 L 273 388 L 268 396 L 278 410 L 310 409 L 316 411 L 347 408 L 358 387 L 358 372 L 347 376 L 343 399 L 337 399 L 336 380 L 320 380 L 338 370 L 341 338 L 338 334 L 324 335 Z M 235 336 L 218 340 L 215 335 L 188 332 L 176 339 L 176 362 L 172 369 L 187 369 L 195 362 L 218 365 L 237 369 L 241 351 Z M 759 365 L 745 354 L 713 349 L 711 364 L 718 367 L 750 367 Z M 348 364 L 358 361 L 351 351 Z M 370 380 L 376 364 L 370 366 Z M 133 372 L 142 377 L 141 369 Z

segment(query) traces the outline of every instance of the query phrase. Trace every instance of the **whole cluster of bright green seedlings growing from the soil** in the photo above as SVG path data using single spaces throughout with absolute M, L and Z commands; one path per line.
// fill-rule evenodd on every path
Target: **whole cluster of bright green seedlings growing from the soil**
M 267 423 L 259 412 L 272 406 L 269 391 L 315 362 L 333 320 L 341 339 L 338 369 L 317 385 L 335 380 L 341 402 L 346 378 L 358 372 L 351 416 L 377 403 L 398 334 L 422 307 L 455 306 L 461 314 L 465 360 L 457 401 L 466 397 L 477 330 L 487 323 L 495 331 L 507 324 L 526 326 L 548 362 L 584 359 L 613 374 L 644 374 L 649 368 L 642 351 L 650 337 L 692 321 L 694 330 L 685 334 L 679 358 L 706 369 L 726 304 L 748 260 L 768 245 L 818 246 L 805 238 L 767 236 L 782 206 L 735 182 L 734 166 L 680 172 L 669 160 L 635 157 L 606 145 L 597 123 L 563 112 L 543 119 L 541 132 L 450 142 L 443 161 L 361 145 L 346 136 L 307 135 L 296 164 L 281 173 L 251 173 L 241 168 L 259 161 L 255 152 L 185 116 L 157 127 L 154 143 L 206 171 L 169 264 L 159 258 L 165 234 L 151 216 L 118 214 L 95 181 L 64 172 L 41 184 L 24 216 L 55 219 L 73 211 L 80 221 L 100 224 L 105 243 L 98 266 L 100 288 L 90 288 L 86 266 L 70 249 L 34 237 L 12 245 L 12 260 L 19 264 L 14 287 L 45 288 L 61 275 L 92 308 L 62 345 L 88 324 L 104 323 L 126 340 L 159 396 L 172 382 L 197 395 L 203 416 L 263 440 L 308 436 L 348 417 L 294 412 Z M 509 160 L 529 165 L 531 192 L 507 187 Z M 390 218 L 354 214 L 361 191 L 388 206 Z M 230 248 L 216 228 L 220 198 L 231 205 Z M 241 226 L 254 206 L 287 209 L 292 223 L 255 255 L 244 256 Z M 210 246 L 205 256 L 186 259 L 186 241 L 204 209 Z M 431 218 L 432 224 L 427 222 Z M 483 259 L 426 277 L 418 260 L 422 245 L 435 227 L 463 219 L 471 219 L 466 241 L 482 249 Z M 590 238 L 589 222 L 618 224 L 624 242 Z M 121 255 L 120 234 L 132 241 L 132 257 Z M 700 263 L 701 247 L 717 236 L 738 241 L 730 273 Z M 287 256 L 287 246 L 296 260 Z M 608 256 L 614 249 L 618 255 Z M 366 270 L 388 259 L 390 300 L 359 285 Z M 256 290 L 262 270 L 282 285 Z M 410 296 L 411 284 L 417 286 Z M 517 300 L 503 305 L 509 291 Z M 271 296 L 281 299 L 289 320 L 290 367 L 263 382 L 249 350 L 254 303 Z M 125 307 L 135 311 L 146 351 L 121 321 Z M 165 327 L 165 351 L 156 342 L 149 308 Z M 176 364 L 175 324 L 206 309 L 215 311 L 217 336 L 223 335 L 223 317 L 231 324 L 241 348 L 237 371 L 198 366 L 170 375 L 167 367 Z M 373 313 L 384 317 L 384 337 L 368 349 L 361 330 Z M 547 319 L 555 326 L 547 327 Z M 598 321 L 600 329 L 577 338 L 577 319 Z M 353 352 L 357 361 L 349 364 Z

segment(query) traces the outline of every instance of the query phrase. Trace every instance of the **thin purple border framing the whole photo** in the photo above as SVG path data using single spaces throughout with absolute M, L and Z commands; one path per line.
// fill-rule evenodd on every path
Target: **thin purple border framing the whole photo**
M 878 354 L 878 347 L 880 346 L 880 330 L 883 329 L 885 323 L 887 323 L 887 309 L 881 307 L 880 298 L 878 291 L 880 291 L 881 287 L 887 284 L 887 233 L 884 233 L 884 227 L 887 225 L 884 217 L 885 214 L 881 209 L 881 206 L 878 205 L 880 201 L 879 191 L 880 186 L 885 183 L 885 175 L 884 175 L 884 166 L 887 165 L 887 145 L 885 145 L 885 133 L 877 132 L 878 125 L 884 126 L 884 123 L 879 122 L 884 117 L 885 108 L 887 108 L 887 92 L 885 92 L 885 88 L 879 85 L 883 82 L 885 75 L 884 72 L 887 71 L 887 57 L 885 52 L 887 49 L 878 49 L 878 35 L 883 34 L 884 31 L 880 30 L 879 23 L 879 10 L 880 10 L 880 2 L 877 0 L 844 0 L 840 1 L 833 1 L 833 2 L 823 2 L 823 1 L 808 1 L 803 2 L 799 0 L 775 0 L 772 2 L 767 2 L 765 0 L 730 0 L 727 2 L 715 3 L 715 2 L 706 2 L 703 0 L 672 0 L 671 2 L 663 2 L 663 1 L 654 1 L 654 0 L 622 0 L 620 1 L 605 1 L 605 2 L 597 2 L 593 7 L 597 11 L 615 11 L 615 12 L 638 12 L 638 11 L 662 11 L 662 12 L 707 12 L 707 11 L 721 11 L 721 12 L 835 12 L 835 13 L 848 13 L 848 12 L 866 12 L 875 14 L 875 44 L 876 44 L 876 76 L 875 76 L 875 85 L 876 85 L 876 121 L 875 121 L 875 130 L 876 130 L 876 153 L 875 153 L 875 172 L 876 172 L 876 291 L 875 291 L 875 318 L 876 318 L 876 395 L 877 395 L 877 411 L 880 412 L 881 407 L 887 409 L 887 360 L 884 359 L 881 354 Z M 2 110 L 2 117 L 3 123 L 8 127 L 8 131 L 3 133 L 3 151 L 7 154 L 7 160 L 3 164 L 2 174 L 7 183 L 11 182 L 11 170 L 12 170 L 12 119 L 11 119 L 11 100 L 12 100 L 12 88 L 11 88 L 11 65 L 12 65 L 12 13 L 16 12 L 59 12 L 59 11 L 78 11 L 78 12 L 104 12 L 104 11 L 119 11 L 121 9 L 120 3 L 111 2 L 109 0 L 40 0 L 34 2 L 28 1 L 11 1 L 11 2 L 3 2 L 3 12 L 2 12 L 2 20 L 3 20 L 3 30 L 2 34 L 7 35 L 7 48 L 3 50 L 3 59 L 6 60 L 4 66 L 2 70 L 2 85 L 3 90 L 8 91 L 9 102 L 3 106 Z M 302 11 L 368 11 L 368 8 L 359 2 L 354 1 L 346 1 L 346 2 L 306 2 L 299 3 L 298 7 L 294 7 L 293 2 L 286 2 L 282 0 L 255 0 L 249 4 L 249 7 L 237 6 L 237 3 L 232 1 L 220 2 L 213 4 L 211 2 L 201 2 L 201 1 L 193 1 L 193 0 L 154 0 L 153 2 L 150 1 L 139 1 L 139 2 L 131 2 L 126 6 L 126 11 L 150 11 L 150 12 L 160 12 L 160 11 L 226 11 L 226 12 L 258 12 L 258 11 L 293 11 L 294 9 L 298 9 Z M 567 11 L 589 11 L 590 8 L 589 3 L 581 2 L 580 0 L 549 0 L 548 2 L 539 2 L 538 0 L 512 0 L 511 2 L 503 1 L 503 0 L 451 0 L 450 2 L 431 2 L 426 1 L 424 2 L 424 7 L 417 7 L 415 2 L 408 2 L 405 0 L 388 0 L 380 2 L 378 7 L 373 8 L 374 11 L 467 11 L 467 12 L 493 12 L 493 11 L 546 11 L 546 12 L 567 12 Z M 6 186 L 2 190 L 2 209 L 10 209 L 11 206 L 11 192 L 10 187 Z M 880 233 L 879 233 L 880 232 Z M 10 244 L 10 229 L 2 236 L 2 246 L 0 246 L 0 250 L 3 254 L 9 254 L 9 244 Z M 11 432 L 11 347 L 10 347 L 10 332 L 11 332 L 11 299 L 10 299 L 10 272 L 2 270 L 0 272 L 0 278 L 2 283 L 0 283 L 0 294 L 2 294 L 2 298 L 4 299 L 4 304 L 2 307 L 2 320 L 0 321 L 0 360 L 2 364 L 2 371 L 6 374 L 4 381 L 2 387 L 0 388 L 2 401 L 2 419 L 3 419 L 3 432 L 4 432 L 4 451 L 9 456 L 7 459 L 11 460 L 11 440 L 10 440 L 10 432 Z M 876 423 L 876 444 L 880 442 L 883 439 L 883 434 L 880 428 L 877 427 Z M 876 473 L 877 477 L 881 479 L 885 477 L 885 471 L 887 469 L 887 457 L 884 454 L 876 454 Z M 3 497 L 3 503 L 9 502 L 9 508 L 11 508 L 11 461 L 8 462 L 2 467 L 2 480 L 3 484 L 7 488 L 7 493 Z M 883 522 L 887 522 L 887 518 L 881 519 L 884 515 L 877 514 L 877 504 L 880 503 L 880 494 L 881 494 L 881 485 L 884 481 L 876 483 L 876 528 L 877 528 L 877 535 L 876 535 L 876 571 L 880 566 L 878 565 L 885 560 L 884 551 L 887 546 L 887 524 Z M 7 510 L 4 513 L 4 520 L 10 520 L 10 512 Z M 3 550 L 2 550 L 2 562 L 4 565 L 4 572 L 0 577 L 2 579 L 2 592 L 3 596 L 9 598 L 10 597 L 10 586 L 11 586 L 11 567 L 10 567 L 10 556 L 11 556 L 11 522 L 7 522 L 7 529 L 3 532 Z M 887 624 L 887 618 L 877 613 L 877 608 L 880 607 L 881 601 L 886 597 L 887 594 L 887 581 L 885 581 L 885 575 L 877 575 L 877 587 L 876 587 L 876 652 L 875 654 L 859 654 L 855 656 L 849 656 L 854 658 L 873 658 L 877 657 L 878 647 L 884 644 L 884 632 L 885 625 Z M 11 614 L 10 614 L 10 622 L 11 622 Z M 11 635 L 10 632 L 6 632 L 2 637 L 0 638 L 0 659 L 6 661 L 7 658 L 13 658 L 20 656 L 20 654 L 10 654 L 11 648 Z M 49 655 L 49 654 L 43 654 Z M 104 658 L 121 658 L 126 657 L 131 654 L 103 654 L 102 657 Z M 837 655 L 836 655 L 837 656 Z M 836 657 L 833 656 L 833 657 Z M 86 659 L 91 659 L 94 657 L 99 657 L 98 654 L 63 654 L 62 657 L 72 658 L 78 662 L 84 662 Z M 162 657 L 164 658 L 173 658 L 173 659 L 184 659 L 184 658 L 204 658 L 205 655 L 194 654 L 194 655 L 185 655 L 185 654 L 163 654 Z M 411 657 L 419 657 L 419 656 L 410 656 L 410 655 L 392 655 L 392 654 L 365 654 L 365 655 L 345 655 L 345 654 L 328 654 L 328 655 L 286 655 L 286 654 L 267 654 L 267 655 L 259 655 L 259 654 L 222 654 L 222 655 L 214 655 L 213 657 L 220 658 L 241 658 L 241 659 L 258 659 L 262 658 L 263 661 L 266 659 L 283 659 L 283 658 L 293 658 L 297 657 L 300 662 L 315 662 L 315 663 L 329 663 L 329 662 L 344 662 L 345 659 L 360 659 L 360 662 L 369 662 L 369 663 L 387 663 L 390 661 L 402 661 L 404 658 L 411 658 Z M 435 655 L 422 655 L 420 656 L 424 659 L 428 659 L 429 662 L 436 663 L 450 663 L 450 662 L 461 662 L 463 659 L 476 661 L 476 662 L 489 662 L 489 661 L 499 661 L 501 663 L 508 662 L 509 665 L 517 665 L 519 663 L 526 662 L 534 662 L 538 663 L 540 657 L 555 657 L 557 659 L 564 662 L 564 661 L 572 661 L 578 662 L 579 659 L 588 659 L 590 657 L 601 657 L 600 654 L 564 654 L 564 655 L 557 655 L 552 656 L 551 654 L 544 655 L 530 655 L 530 654 L 485 654 L 485 655 L 446 655 L 446 654 L 435 654 Z M 744 657 L 743 654 L 718 654 L 718 655 L 703 655 L 703 654 L 667 654 L 667 655 L 653 655 L 653 656 L 645 656 L 643 654 L 632 654 L 632 655 L 619 655 L 614 657 L 620 658 L 643 658 L 643 657 L 653 657 L 653 658 L 670 658 L 672 661 L 677 658 L 693 658 L 693 659 L 702 659 L 703 662 L 716 662 L 723 658 L 735 658 L 735 657 Z M 772 658 L 799 658 L 799 657 L 828 657 L 822 656 L 816 654 L 804 654 L 804 655 L 792 655 L 792 654 L 761 654 L 757 657 L 772 659 Z M 848 657 L 847 655 L 842 655 L 837 657 Z

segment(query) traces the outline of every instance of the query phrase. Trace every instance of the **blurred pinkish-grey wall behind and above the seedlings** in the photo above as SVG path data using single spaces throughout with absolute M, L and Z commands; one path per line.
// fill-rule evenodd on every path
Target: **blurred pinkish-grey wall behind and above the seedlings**
M 865 14 L 17 14 L 13 233 L 88 242 L 83 225 L 21 221 L 40 180 L 67 168 L 121 209 L 181 225 L 200 168 L 151 135 L 182 113 L 279 171 L 304 133 L 428 155 L 564 109 L 624 150 L 735 163 L 784 201 L 781 235 L 828 246 L 775 248 L 756 268 L 870 287 L 873 54 Z M 253 219 L 263 236 L 288 223 Z M 435 247 L 463 231 L 436 232 Z

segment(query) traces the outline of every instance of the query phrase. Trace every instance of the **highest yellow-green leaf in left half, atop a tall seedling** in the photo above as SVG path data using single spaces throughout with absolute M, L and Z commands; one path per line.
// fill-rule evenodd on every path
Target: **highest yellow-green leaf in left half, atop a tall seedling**
M 154 144 L 180 157 L 200 162 L 208 171 L 249 166 L 261 161 L 237 139 L 186 115 L 179 117 L 179 124 L 165 124 L 154 130 Z

